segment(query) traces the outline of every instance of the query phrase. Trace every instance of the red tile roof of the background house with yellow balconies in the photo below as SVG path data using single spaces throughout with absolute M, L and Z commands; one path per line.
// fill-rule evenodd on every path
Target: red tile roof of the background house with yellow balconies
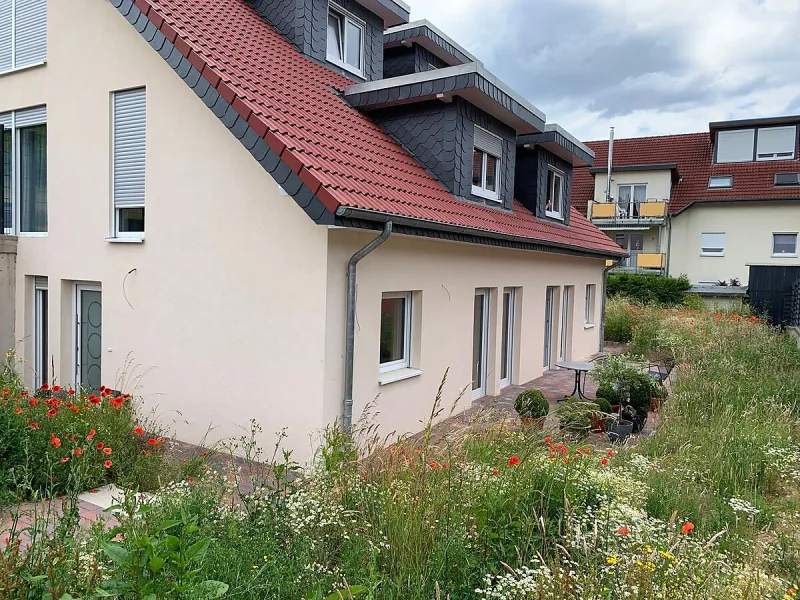
M 608 166 L 608 140 L 586 142 L 595 152 L 595 167 Z M 670 212 L 695 202 L 800 198 L 800 188 L 775 187 L 775 173 L 800 172 L 800 160 L 714 164 L 708 133 L 688 133 L 614 140 L 613 166 L 677 164 L 682 181 L 674 184 Z M 733 175 L 733 187 L 708 189 L 712 175 Z M 594 175 L 588 168 L 573 175 L 572 205 L 586 214 L 594 198 Z

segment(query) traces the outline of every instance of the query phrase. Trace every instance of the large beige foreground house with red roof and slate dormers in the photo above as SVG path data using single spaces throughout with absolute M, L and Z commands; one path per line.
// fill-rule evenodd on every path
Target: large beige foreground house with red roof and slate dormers
M 307 456 L 378 397 L 418 430 L 448 369 L 463 409 L 597 350 L 623 252 L 571 207 L 592 152 L 401 2 L 7 6 L 29 384 L 143 375 L 184 440 L 253 417 Z

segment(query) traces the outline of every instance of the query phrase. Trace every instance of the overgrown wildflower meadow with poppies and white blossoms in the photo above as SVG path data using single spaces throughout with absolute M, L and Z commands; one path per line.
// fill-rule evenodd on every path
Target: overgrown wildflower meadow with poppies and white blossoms
M 25 394 L 6 372 L 0 419 L 31 448 L 15 455 L 30 466 L 14 481 L 130 491 L 110 528 L 0 534 L 0 598 L 793 600 L 800 351 L 750 315 L 614 299 L 609 325 L 631 352 L 676 364 L 654 433 L 630 444 L 498 415 L 382 441 L 366 417 L 352 436 L 326 429 L 300 467 L 281 436 L 264 456 L 254 424 L 188 475 L 124 394 L 97 405 L 71 390 Z M 84 458 L 86 476 L 70 479 L 63 470 Z

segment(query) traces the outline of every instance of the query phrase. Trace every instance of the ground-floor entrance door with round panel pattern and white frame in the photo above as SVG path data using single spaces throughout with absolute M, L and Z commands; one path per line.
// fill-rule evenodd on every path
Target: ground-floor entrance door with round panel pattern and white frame
M 102 381 L 103 301 L 99 286 L 75 286 L 75 385 L 99 388 Z

